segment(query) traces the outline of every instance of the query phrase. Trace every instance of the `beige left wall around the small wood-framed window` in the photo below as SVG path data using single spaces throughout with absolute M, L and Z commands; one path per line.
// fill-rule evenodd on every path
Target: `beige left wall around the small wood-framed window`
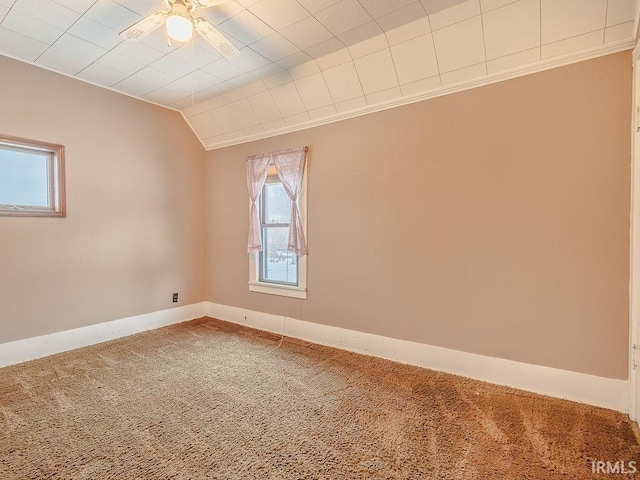
M 204 298 L 205 152 L 181 115 L 0 56 L 0 134 L 66 146 L 67 218 L 0 217 L 0 343 Z

